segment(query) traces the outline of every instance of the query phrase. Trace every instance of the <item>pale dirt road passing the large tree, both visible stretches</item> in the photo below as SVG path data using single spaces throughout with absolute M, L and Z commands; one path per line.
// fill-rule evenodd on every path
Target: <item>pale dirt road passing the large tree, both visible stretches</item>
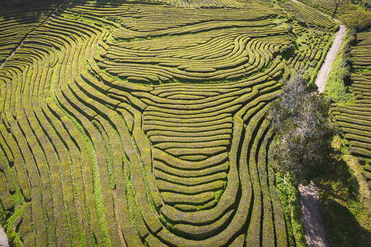
M 307 6 L 307 8 L 311 8 L 304 3 L 300 3 L 296 0 L 291 0 L 301 5 Z M 314 8 L 311 8 L 315 10 Z M 329 16 L 328 14 L 324 14 L 318 10 L 315 10 L 324 16 Z M 339 21 L 334 19 L 337 23 Z M 328 53 L 326 54 L 326 58 L 320 71 L 318 72 L 317 78 L 315 79 L 315 84 L 318 86 L 318 91 L 323 93 L 324 86 L 328 80 L 328 76 L 330 75 L 331 67 L 333 66 L 333 62 L 339 51 L 346 34 L 346 26 L 339 25 L 339 31 L 335 33 L 335 38 L 333 40 L 333 44 L 329 49 Z M 300 196 L 300 205 L 302 209 L 302 213 L 300 215 L 300 219 L 304 224 L 304 234 L 305 238 L 307 239 L 308 247 L 329 247 L 331 246 L 328 233 L 326 230 L 326 225 L 324 224 L 324 217 L 322 215 L 322 211 L 320 208 L 320 202 L 318 199 L 318 191 L 317 186 L 311 181 L 311 183 L 307 186 L 299 185 L 299 196 Z

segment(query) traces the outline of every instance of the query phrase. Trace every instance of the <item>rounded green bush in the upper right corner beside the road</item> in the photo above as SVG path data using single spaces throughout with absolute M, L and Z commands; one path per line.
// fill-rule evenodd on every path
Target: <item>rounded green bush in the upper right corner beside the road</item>
M 340 19 L 349 29 L 354 28 L 358 32 L 371 27 L 371 13 L 362 9 L 344 14 Z

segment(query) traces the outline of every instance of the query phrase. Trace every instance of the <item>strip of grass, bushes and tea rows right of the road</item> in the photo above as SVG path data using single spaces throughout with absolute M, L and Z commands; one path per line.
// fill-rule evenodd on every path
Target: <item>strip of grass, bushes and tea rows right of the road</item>
M 371 13 L 356 10 L 343 14 L 340 19 L 348 32 L 324 91 L 334 103 L 332 111 L 341 130 L 332 143 L 336 165 L 315 181 L 331 244 L 371 246 L 371 194 L 367 171 L 370 156 L 367 149 L 357 148 L 363 142 L 367 148 L 370 135 L 365 117 L 370 99 L 365 85 L 371 80 L 364 61 L 370 60 L 365 51 L 370 49 L 367 37 Z M 358 134 L 354 133 L 357 129 L 361 130 Z

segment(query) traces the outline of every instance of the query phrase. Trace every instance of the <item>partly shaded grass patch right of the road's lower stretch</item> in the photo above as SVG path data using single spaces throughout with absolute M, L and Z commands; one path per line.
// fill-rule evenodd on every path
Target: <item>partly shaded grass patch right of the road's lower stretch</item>
M 361 202 L 359 180 L 349 164 L 354 159 L 344 141 L 335 137 L 333 170 L 316 182 L 328 235 L 333 246 L 371 246 L 371 212 Z

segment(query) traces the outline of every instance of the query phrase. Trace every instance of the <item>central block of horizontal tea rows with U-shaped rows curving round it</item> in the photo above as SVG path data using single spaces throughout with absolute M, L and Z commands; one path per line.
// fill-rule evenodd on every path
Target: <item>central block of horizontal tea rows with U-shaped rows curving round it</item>
M 285 231 L 276 228 L 275 233 L 269 187 L 260 189 L 260 183 L 265 183 L 266 168 L 261 162 L 265 163 L 266 152 L 258 155 L 256 151 L 267 147 L 269 135 L 262 141 L 268 126 L 264 115 L 267 102 L 277 96 L 279 87 L 267 77 L 255 78 L 232 84 L 165 84 L 154 86 L 148 93 L 136 93 L 148 104 L 143 130 L 152 142 L 155 183 L 163 199 L 163 205 L 156 209 L 169 223 L 153 237 L 144 235 L 148 244 L 157 239 L 158 244 L 171 246 L 240 246 L 245 241 L 259 245 L 263 239 L 267 244 L 279 241 L 279 246 L 287 245 L 287 239 L 282 242 L 274 237 L 285 235 Z M 226 100 L 211 104 L 221 99 Z M 246 99 L 249 103 L 242 106 Z M 236 113 L 237 109 L 241 110 Z M 233 119 L 231 113 L 235 113 Z M 217 128 L 213 127 L 215 121 L 220 122 Z M 224 144 L 229 152 L 200 152 L 208 146 L 223 147 L 211 139 L 230 142 Z M 207 140 L 210 144 L 205 143 Z M 174 154 L 171 147 L 182 152 Z M 254 151 L 249 154 L 249 150 Z M 262 214 L 263 204 L 266 210 Z

